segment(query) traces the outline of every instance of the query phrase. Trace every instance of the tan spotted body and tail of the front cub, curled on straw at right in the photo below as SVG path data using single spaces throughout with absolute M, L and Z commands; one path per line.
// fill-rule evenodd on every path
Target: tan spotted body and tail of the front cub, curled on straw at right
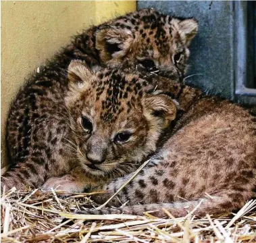
M 164 84 L 164 82 L 163 82 Z M 201 202 L 196 215 L 240 209 L 253 196 L 256 184 L 256 124 L 249 111 L 199 90 L 170 82 L 170 92 L 181 104 L 172 136 L 151 164 L 113 198 L 108 206 L 122 209 L 88 210 L 80 213 L 132 213 L 162 208 L 182 217 Z M 176 87 L 176 88 L 174 88 Z M 177 92 L 178 91 L 178 92 Z M 94 196 L 105 202 L 130 178 L 113 180 L 98 189 L 108 193 Z

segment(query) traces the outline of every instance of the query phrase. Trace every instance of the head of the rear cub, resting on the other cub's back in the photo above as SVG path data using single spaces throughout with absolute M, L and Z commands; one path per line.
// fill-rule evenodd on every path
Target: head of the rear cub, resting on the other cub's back
M 190 41 L 197 34 L 193 19 L 181 20 L 141 9 L 103 24 L 96 48 L 103 63 L 140 72 L 154 72 L 181 80 L 186 71 Z

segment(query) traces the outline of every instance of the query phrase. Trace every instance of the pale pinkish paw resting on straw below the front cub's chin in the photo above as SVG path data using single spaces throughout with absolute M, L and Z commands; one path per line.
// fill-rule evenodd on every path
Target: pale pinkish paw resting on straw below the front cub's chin
M 71 175 L 64 175 L 61 178 L 50 178 L 45 182 L 43 190 L 64 190 L 66 192 L 84 192 L 85 185 L 76 180 Z

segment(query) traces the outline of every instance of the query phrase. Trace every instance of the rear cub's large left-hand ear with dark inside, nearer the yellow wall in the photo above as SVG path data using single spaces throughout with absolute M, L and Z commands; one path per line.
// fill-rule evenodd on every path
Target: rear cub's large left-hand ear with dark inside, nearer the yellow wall
M 99 51 L 103 62 L 111 59 L 122 59 L 130 51 L 132 41 L 132 32 L 130 30 L 110 26 L 97 32 L 96 49 Z

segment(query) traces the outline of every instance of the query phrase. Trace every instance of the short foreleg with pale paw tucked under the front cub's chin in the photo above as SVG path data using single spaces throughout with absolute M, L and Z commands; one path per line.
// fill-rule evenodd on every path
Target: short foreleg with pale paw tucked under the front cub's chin
M 51 190 L 51 188 L 53 188 L 57 190 L 64 190 L 66 192 L 84 192 L 99 186 L 99 182 L 103 184 L 106 180 L 99 180 L 99 178 L 95 180 L 92 175 L 89 175 L 80 166 L 78 166 L 72 169 L 72 171 L 67 175 L 50 178 L 43 185 L 43 189 Z

